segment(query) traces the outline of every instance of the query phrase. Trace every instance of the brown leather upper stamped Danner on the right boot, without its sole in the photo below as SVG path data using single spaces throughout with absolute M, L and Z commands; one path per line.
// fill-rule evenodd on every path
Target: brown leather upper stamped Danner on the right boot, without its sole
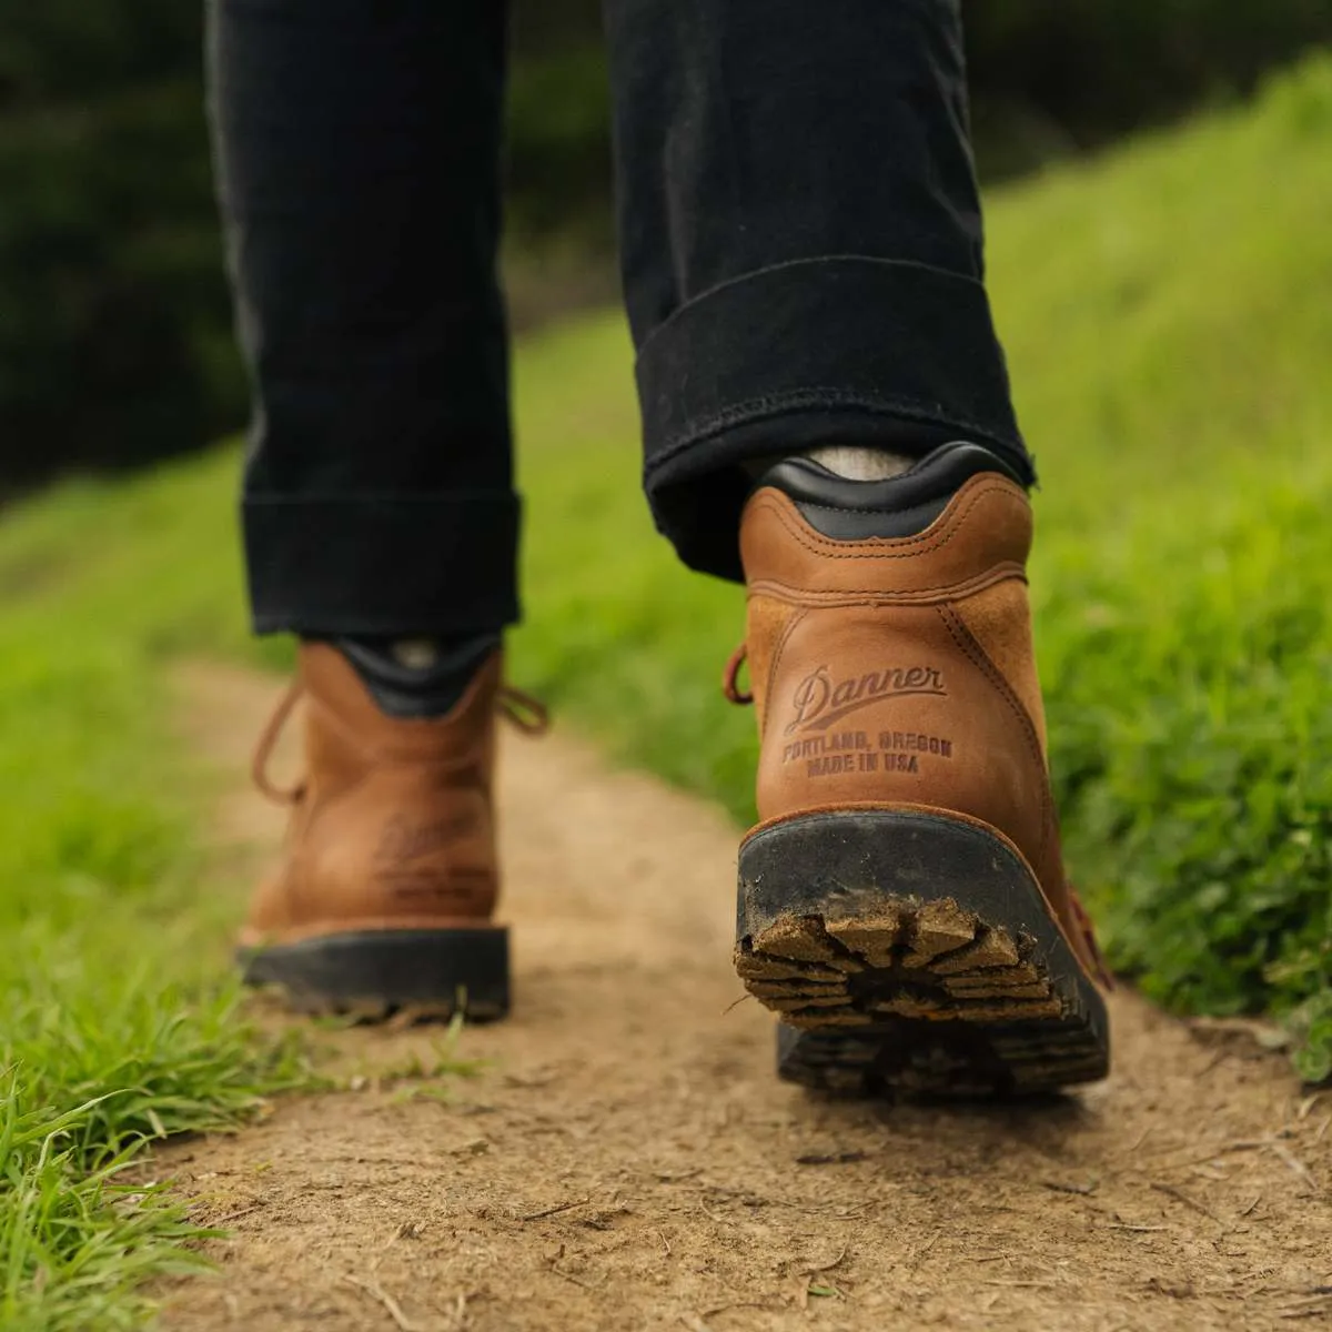
M 1031 506 L 998 473 L 923 533 L 838 541 L 786 494 L 746 505 L 749 669 L 766 823 L 848 806 L 983 825 L 1031 866 L 1079 955 L 1095 944 L 1064 879 L 1027 599 Z

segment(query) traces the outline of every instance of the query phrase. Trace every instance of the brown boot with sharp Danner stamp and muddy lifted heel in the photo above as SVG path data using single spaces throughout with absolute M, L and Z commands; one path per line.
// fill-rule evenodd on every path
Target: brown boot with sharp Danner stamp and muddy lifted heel
M 1108 978 L 1046 766 L 1031 530 L 968 444 L 882 482 L 789 460 L 745 507 L 762 822 L 735 966 L 794 1082 L 987 1094 L 1107 1071 Z

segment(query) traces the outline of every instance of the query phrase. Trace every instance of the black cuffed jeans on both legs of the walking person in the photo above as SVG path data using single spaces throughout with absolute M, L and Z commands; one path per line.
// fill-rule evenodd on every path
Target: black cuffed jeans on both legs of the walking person
M 739 577 L 746 460 L 987 442 L 1032 478 L 982 273 L 956 0 L 606 0 L 645 484 Z M 210 0 L 254 377 L 256 627 L 517 618 L 500 0 Z

